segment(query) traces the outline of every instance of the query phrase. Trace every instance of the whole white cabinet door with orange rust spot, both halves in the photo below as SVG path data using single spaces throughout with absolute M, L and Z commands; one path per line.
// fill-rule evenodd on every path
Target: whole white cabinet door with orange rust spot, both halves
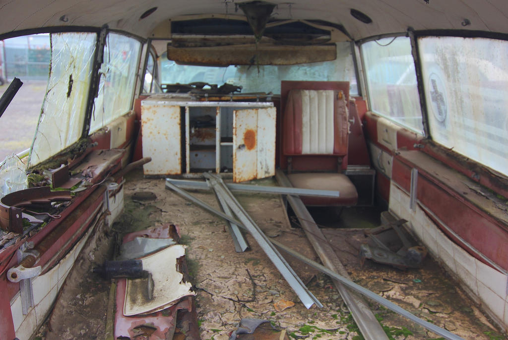
M 275 108 L 234 111 L 234 182 L 275 175 L 275 115 Z

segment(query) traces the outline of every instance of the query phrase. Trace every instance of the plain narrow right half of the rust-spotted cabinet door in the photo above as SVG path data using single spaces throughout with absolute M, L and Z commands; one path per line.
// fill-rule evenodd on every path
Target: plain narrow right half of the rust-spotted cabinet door
M 275 175 L 275 108 L 258 110 L 258 155 L 256 178 Z

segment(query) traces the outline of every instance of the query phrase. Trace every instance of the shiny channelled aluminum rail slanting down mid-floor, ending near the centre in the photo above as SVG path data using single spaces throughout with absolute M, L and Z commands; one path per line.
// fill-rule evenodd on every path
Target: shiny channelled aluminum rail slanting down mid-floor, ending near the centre
M 312 304 L 314 303 L 320 308 L 323 307 L 321 302 L 317 300 L 317 298 L 307 289 L 302 280 L 300 280 L 298 275 L 296 275 L 295 271 L 289 265 L 289 263 L 282 257 L 282 255 L 280 255 L 277 249 L 270 243 L 270 240 L 263 233 L 263 231 L 261 231 L 259 226 L 252 220 L 252 218 L 247 214 L 247 212 L 245 212 L 245 210 L 233 196 L 231 191 L 228 190 L 228 188 L 226 187 L 220 176 L 213 176 L 210 174 L 204 174 L 204 176 L 209 180 L 209 183 L 213 187 L 215 192 L 224 198 L 227 205 L 231 208 L 233 213 L 242 222 L 247 231 L 256 240 L 261 249 L 263 249 L 268 258 L 275 265 L 275 267 L 277 267 L 280 274 L 289 283 L 289 285 L 298 295 L 298 297 L 305 305 L 305 307 L 309 309 L 310 307 L 312 307 Z M 235 224 L 238 225 L 238 223 Z

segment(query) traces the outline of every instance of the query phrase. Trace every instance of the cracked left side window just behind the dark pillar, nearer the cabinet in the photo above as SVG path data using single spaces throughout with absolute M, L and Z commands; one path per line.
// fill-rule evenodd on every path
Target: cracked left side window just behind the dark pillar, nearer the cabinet
M 141 43 L 136 39 L 108 33 L 90 132 L 131 110 L 140 50 Z

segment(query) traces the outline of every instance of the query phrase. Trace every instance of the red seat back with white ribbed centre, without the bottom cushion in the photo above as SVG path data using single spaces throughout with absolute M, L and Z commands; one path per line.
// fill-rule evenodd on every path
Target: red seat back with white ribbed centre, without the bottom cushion
M 349 82 L 281 82 L 280 166 L 341 172 L 347 166 Z

